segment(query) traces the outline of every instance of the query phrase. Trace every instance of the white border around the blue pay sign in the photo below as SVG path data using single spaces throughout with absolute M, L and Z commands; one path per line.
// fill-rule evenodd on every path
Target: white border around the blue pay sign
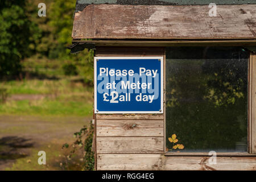
M 161 111 L 97 111 L 97 59 L 160 59 L 161 61 Z M 163 114 L 163 56 L 94 57 L 94 113 L 95 114 Z

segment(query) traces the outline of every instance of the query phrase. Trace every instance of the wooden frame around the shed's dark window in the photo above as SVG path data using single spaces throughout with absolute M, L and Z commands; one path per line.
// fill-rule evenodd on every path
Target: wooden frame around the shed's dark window
M 164 98 L 164 155 L 166 156 L 209 156 L 208 152 L 168 152 L 166 151 L 166 48 L 163 59 Z M 217 156 L 256 156 L 256 53 L 250 52 L 248 63 L 247 102 L 247 152 L 216 152 Z M 254 94 L 253 94 L 254 93 Z

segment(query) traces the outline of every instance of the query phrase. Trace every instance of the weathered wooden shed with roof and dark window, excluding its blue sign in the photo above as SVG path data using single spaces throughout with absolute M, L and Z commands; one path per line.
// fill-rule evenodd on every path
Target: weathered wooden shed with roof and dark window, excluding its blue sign
M 256 1 L 214 2 L 77 1 L 71 52 L 163 57 L 163 110 L 95 109 L 97 170 L 256 169 Z

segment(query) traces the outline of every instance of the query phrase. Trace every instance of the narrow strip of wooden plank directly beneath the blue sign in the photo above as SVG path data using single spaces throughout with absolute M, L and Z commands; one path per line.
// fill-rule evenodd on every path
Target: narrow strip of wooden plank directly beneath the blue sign
M 163 114 L 96 114 L 97 119 L 157 119 L 162 120 Z

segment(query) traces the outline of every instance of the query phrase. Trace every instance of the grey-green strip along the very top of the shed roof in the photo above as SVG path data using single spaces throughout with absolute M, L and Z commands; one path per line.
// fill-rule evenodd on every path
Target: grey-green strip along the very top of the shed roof
M 75 13 L 82 11 L 86 6 L 92 4 L 113 4 L 113 5 L 209 5 L 212 0 L 77 0 Z M 256 0 L 215 0 L 216 5 L 247 5 L 256 4 Z

